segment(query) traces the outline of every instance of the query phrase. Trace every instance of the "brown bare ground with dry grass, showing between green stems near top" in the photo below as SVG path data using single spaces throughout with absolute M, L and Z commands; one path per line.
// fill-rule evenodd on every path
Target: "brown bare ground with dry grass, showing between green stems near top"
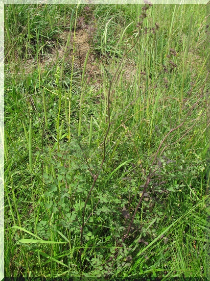
M 57 50 L 54 49 L 51 53 L 46 55 L 46 58 L 42 59 L 39 64 L 42 71 L 45 68 L 50 68 L 57 63 L 59 60 L 62 61 L 63 57 L 65 56 L 65 67 L 71 69 L 73 55 L 74 55 L 74 66 L 73 71 L 78 72 L 80 71 L 82 74 L 86 55 L 90 50 L 91 46 L 89 44 L 88 33 L 83 30 L 79 29 L 75 32 L 75 40 L 74 40 L 74 33 L 71 32 L 70 36 L 70 46 L 65 53 L 65 47 L 68 40 L 69 31 L 65 31 L 60 35 L 60 39 L 63 41 L 62 46 L 58 46 Z M 74 51 L 73 51 L 74 48 Z M 109 62 L 108 62 L 109 63 Z M 25 74 L 29 74 L 33 72 L 35 68 L 37 68 L 37 61 L 36 59 L 27 60 L 26 63 L 23 65 Z M 92 83 L 92 85 L 96 87 L 100 87 L 101 84 L 101 63 L 97 61 L 96 55 L 93 52 L 89 53 L 87 65 L 86 65 L 86 77 L 87 83 Z M 115 71 L 117 69 L 114 67 Z M 64 68 L 65 73 L 65 68 Z M 124 63 L 124 67 L 122 70 L 122 76 L 124 81 L 131 81 L 136 75 L 136 65 L 131 59 L 126 59 Z

